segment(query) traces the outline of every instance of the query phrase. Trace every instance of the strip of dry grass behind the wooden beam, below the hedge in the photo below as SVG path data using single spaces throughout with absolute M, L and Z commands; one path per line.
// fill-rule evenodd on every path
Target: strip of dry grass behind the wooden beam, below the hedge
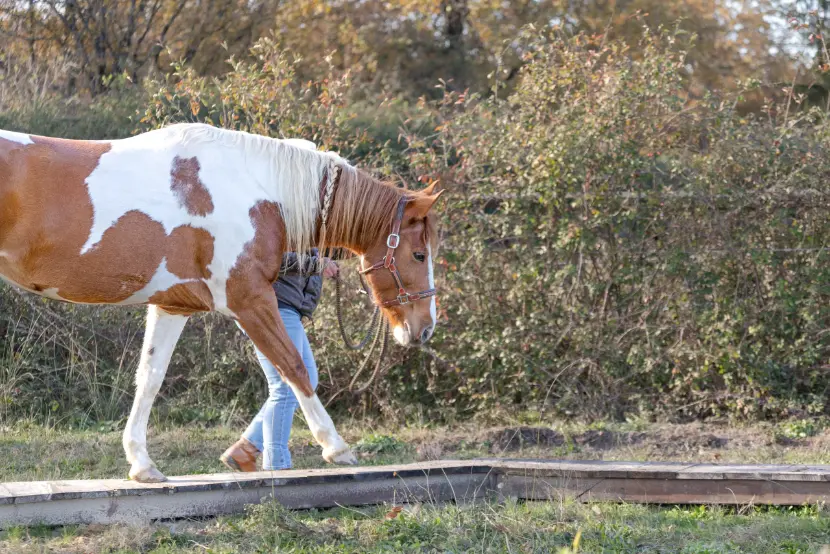
M 745 427 L 717 423 L 506 423 L 453 428 L 352 423 L 340 430 L 361 463 L 371 465 L 491 456 L 830 464 L 830 428 L 820 422 Z M 150 455 L 169 475 L 224 471 L 219 454 L 239 432 L 225 427 L 153 425 Z M 295 425 L 290 446 L 295 467 L 325 466 L 319 447 L 301 421 Z M 0 427 L 0 459 L 4 461 L 0 481 L 122 478 L 128 469 L 118 425 L 78 430 L 17 422 Z

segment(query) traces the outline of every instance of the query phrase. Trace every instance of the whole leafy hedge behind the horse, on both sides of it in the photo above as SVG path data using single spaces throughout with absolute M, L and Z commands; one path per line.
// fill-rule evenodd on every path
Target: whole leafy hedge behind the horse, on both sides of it
M 826 413 L 826 113 L 791 95 L 756 115 L 736 109 L 740 97 L 690 97 L 684 54 L 667 33 L 644 33 L 637 56 L 583 35 L 528 29 L 517 40 L 525 66 L 510 96 L 447 92 L 414 106 L 367 101 L 333 69 L 325 82 L 297 83 L 290 53 L 261 41 L 222 79 L 178 67 L 150 83 L 141 128 L 206 121 L 301 136 L 362 167 L 449 189 L 434 342 L 395 349 L 388 373 L 359 398 L 344 393 L 360 358 L 342 347 L 326 291 L 310 333 L 335 410 L 401 420 L 518 409 Z M 0 300 L 10 306 L 5 325 L 24 314 L 30 321 L 15 329 L 49 337 L 29 341 L 26 362 L 16 339 L 7 342 L 8 414 L 53 413 L 44 389 L 59 399 L 55 413 L 126 413 L 140 312 L 48 304 L 71 316 L 55 327 L 39 304 Z M 355 327 L 368 317 L 360 301 L 346 308 Z M 164 389 L 176 400 L 162 413 L 247 419 L 264 383 L 246 342 L 224 319 L 196 321 Z M 78 360 L 82 385 L 70 379 Z M 101 383 L 117 391 L 112 408 L 93 401 Z

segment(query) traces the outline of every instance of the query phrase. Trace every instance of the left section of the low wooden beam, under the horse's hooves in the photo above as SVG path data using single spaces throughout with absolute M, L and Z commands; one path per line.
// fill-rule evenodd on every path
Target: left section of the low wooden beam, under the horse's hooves
M 269 498 L 290 509 L 463 504 L 490 494 L 494 480 L 487 465 L 450 462 L 194 475 L 153 484 L 121 479 L 5 483 L 0 489 L 0 528 L 215 516 L 240 513 Z

